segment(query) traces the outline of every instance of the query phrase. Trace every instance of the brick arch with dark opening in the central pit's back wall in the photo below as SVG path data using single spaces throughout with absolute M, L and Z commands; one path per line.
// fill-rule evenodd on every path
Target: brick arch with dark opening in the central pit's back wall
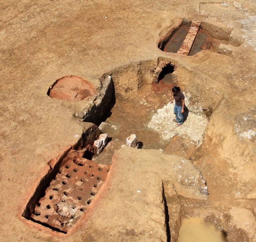
M 158 84 L 158 82 L 162 80 L 166 74 L 171 74 L 173 85 L 177 86 L 178 81 L 177 81 L 176 69 L 177 69 L 177 66 L 173 64 L 171 61 L 165 61 L 165 60 L 160 61 L 153 75 L 152 83 Z

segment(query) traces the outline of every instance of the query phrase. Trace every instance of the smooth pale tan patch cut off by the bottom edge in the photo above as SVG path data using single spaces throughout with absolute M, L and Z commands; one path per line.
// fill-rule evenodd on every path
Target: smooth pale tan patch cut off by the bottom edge
M 203 218 L 191 217 L 182 220 L 178 242 L 225 242 L 224 235 Z

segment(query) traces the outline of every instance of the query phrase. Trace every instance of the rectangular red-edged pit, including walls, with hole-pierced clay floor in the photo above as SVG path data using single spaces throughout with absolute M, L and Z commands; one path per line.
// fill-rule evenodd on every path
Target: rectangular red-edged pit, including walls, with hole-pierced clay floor
M 92 145 L 74 148 L 60 155 L 22 213 L 23 217 L 62 233 L 67 233 L 86 213 L 110 168 L 91 160 L 96 152 Z

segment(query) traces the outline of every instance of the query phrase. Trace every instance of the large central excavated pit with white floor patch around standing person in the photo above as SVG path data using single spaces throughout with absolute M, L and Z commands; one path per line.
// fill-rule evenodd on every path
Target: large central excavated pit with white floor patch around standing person
M 111 163 L 111 154 L 131 134 L 138 136 L 143 149 L 165 150 L 175 136 L 187 138 L 198 147 L 213 107 L 221 97 L 198 92 L 198 79 L 194 80 L 191 71 L 169 58 L 132 63 L 104 74 L 103 79 L 104 76 L 113 79 L 115 99 L 102 122 L 97 123 L 102 132 L 112 137 L 106 147 L 109 155 L 105 153 L 102 164 Z M 185 122 L 178 128 L 172 121 L 174 104 L 170 102 L 174 86 L 181 87 L 187 106 Z

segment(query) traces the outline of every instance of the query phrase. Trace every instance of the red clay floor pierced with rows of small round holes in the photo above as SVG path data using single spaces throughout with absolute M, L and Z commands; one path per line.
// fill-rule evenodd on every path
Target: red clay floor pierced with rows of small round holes
M 40 199 L 31 217 L 39 222 L 67 232 L 86 211 L 105 181 L 108 168 L 83 159 L 84 166 L 68 162 L 56 180 L 52 180 L 46 195 Z

